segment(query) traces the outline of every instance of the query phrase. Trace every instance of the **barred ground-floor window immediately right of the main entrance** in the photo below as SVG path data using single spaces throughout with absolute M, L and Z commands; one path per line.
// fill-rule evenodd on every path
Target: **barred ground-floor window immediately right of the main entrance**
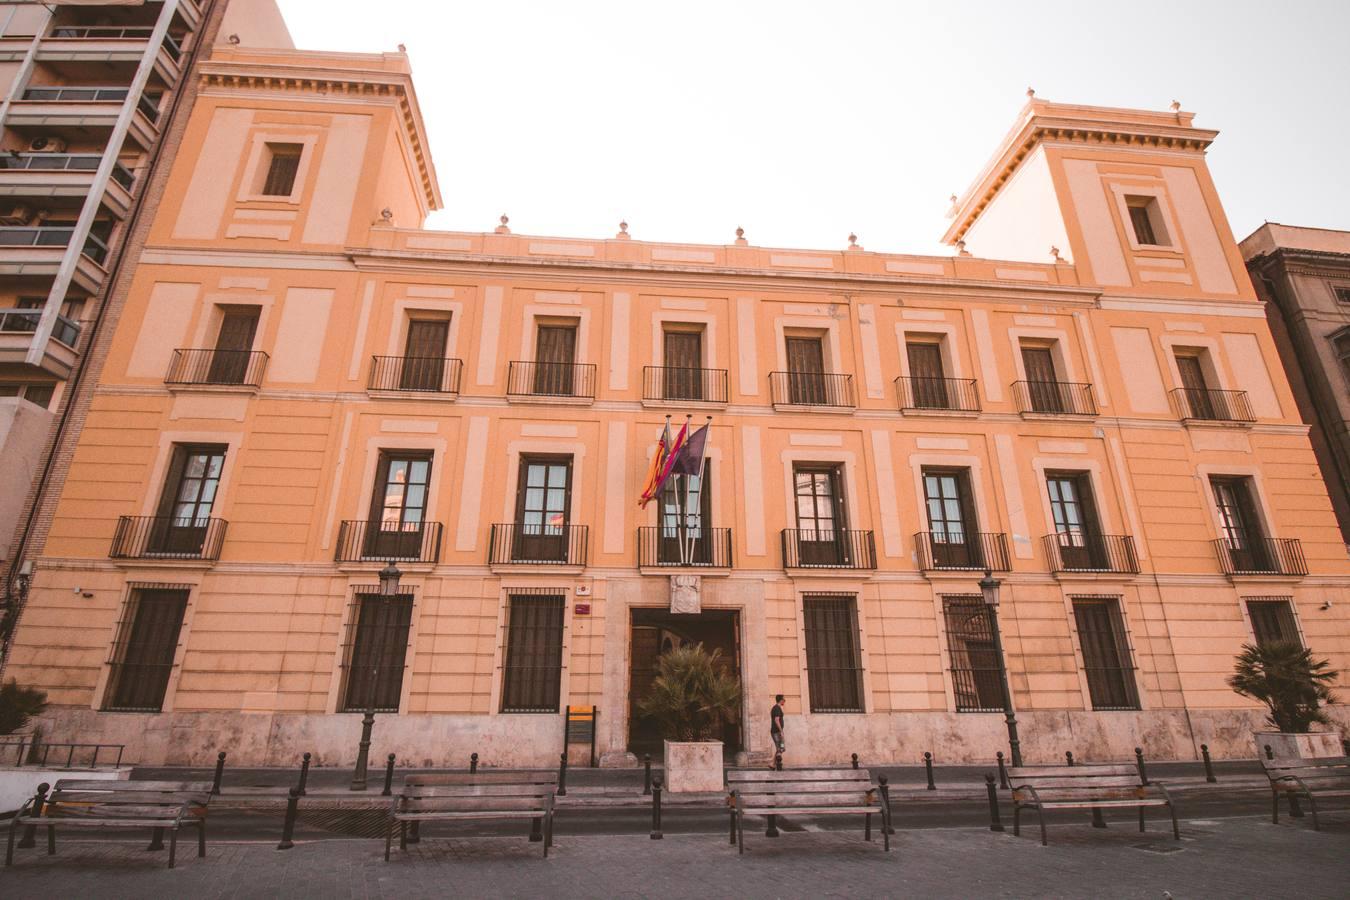
M 857 600 L 849 594 L 805 594 L 806 677 L 811 712 L 861 712 L 863 665 Z

